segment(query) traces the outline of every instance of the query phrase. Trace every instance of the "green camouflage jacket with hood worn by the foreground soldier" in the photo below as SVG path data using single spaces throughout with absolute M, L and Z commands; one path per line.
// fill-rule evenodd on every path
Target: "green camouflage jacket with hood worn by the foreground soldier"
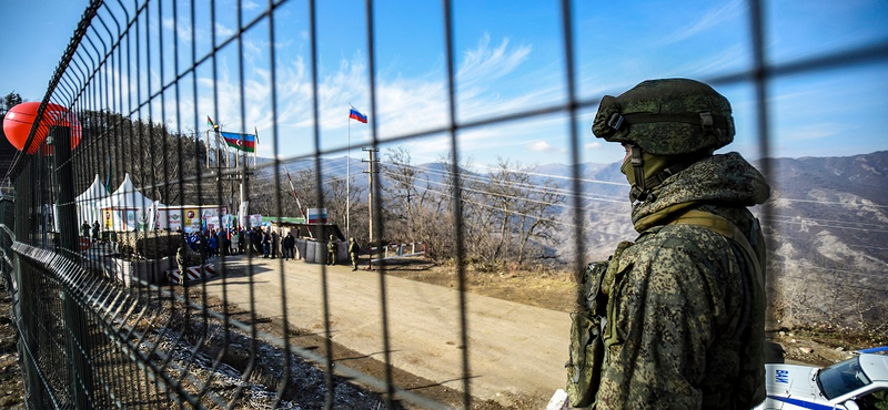
M 765 393 L 764 288 L 745 286 L 744 262 L 726 237 L 666 224 L 696 208 L 760 238 L 746 207 L 764 203 L 769 188 L 729 153 L 670 176 L 654 193 L 655 201 L 633 208 L 640 235 L 618 247 L 602 285 L 610 320 L 596 409 L 749 409 Z

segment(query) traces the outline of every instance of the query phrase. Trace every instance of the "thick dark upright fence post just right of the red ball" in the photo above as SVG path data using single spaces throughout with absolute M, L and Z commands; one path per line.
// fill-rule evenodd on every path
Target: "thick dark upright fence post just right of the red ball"
M 56 201 L 59 204 L 59 245 L 62 257 L 77 263 L 80 254 L 78 238 L 77 205 L 74 204 L 74 176 L 71 166 L 71 129 L 50 127 L 48 142 L 52 144 L 52 165 L 56 172 Z M 62 286 L 62 306 L 67 330 L 68 358 L 70 368 L 69 388 L 73 404 L 78 409 L 92 407 L 92 372 L 89 366 L 89 329 L 85 312 L 78 306 L 74 295 Z

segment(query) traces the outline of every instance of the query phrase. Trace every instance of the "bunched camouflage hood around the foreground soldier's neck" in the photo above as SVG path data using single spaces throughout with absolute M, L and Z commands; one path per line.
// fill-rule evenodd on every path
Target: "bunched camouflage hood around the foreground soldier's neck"
M 736 152 L 713 155 L 669 176 L 653 189 L 656 199 L 633 206 L 635 230 L 643 232 L 672 213 L 697 204 L 754 206 L 765 203 L 765 177 Z

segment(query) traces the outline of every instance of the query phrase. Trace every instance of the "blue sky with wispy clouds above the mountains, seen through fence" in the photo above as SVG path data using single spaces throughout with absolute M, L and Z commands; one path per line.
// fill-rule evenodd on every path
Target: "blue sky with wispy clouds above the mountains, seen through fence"
M 0 42 L 0 93 L 19 92 L 41 100 L 47 83 L 82 14 L 84 1 L 6 1 L 0 23 L 9 37 Z M 155 4 L 155 3 L 152 3 Z M 235 32 L 235 2 L 216 1 L 216 41 Z M 262 4 L 262 6 L 260 6 Z M 153 61 L 145 70 L 120 75 L 142 75 L 142 98 L 148 86 L 157 91 L 174 73 L 171 55 L 171 1 L 161 3 L 161 19 L 150 27 Z M 152 6 L 153 8 L 154 6 Z M 546 107 L 566 99 L 561 11 L 557 1 L 454 1 L 456 30 L 457 119 L 473 121 L 490 115 Z M 264 11 L 264 2 L 243 1 L 243 21 Z M 371 116 L 385 139 L 442 127 L 447 122 L 444 28 L 436 1 L 375 2 L 377 112 L 371 113 L 366 22 L 363 1 L 319 1 L 319 78 L 321 148 L 336 151 L 370 142 L 370 126 L 347 121 L 349 103 Z M 52 12 L 46 12 L 51 9 Z M 270 38 L 263 21 L 243 35 L 244 112 L 241 115 L 236 42 L 216 54 L 214 99 L 212 63 L 196 70 L 181 85 L 182 117 L 172 112 L 172 92 L 155 99 L 151 115 L 181 123 L 185 132 L 202 130 L 205 116 L 225 131 L 259 130 L 259 154 L 293 157 L 314 152 L 311 112 L 311 65 L 306 13 L 302 1 L 275 11 L 278 132 L 272 135 L 270 103 Z M 888 2 L 765 1 L 766 58 L 771 63 L 816 58 L 860 45 L 888 42 Z M 209 10 L 198 6 L 192 32 L 185 4 L 180 4 L 178 31 L 180 71 L 190 65 L 191 37 L 198 58 L 211 50 Z M 748 4 L 745 1 L 575 1 L 575 47 L 578 93 L 582 99 L 619 94 L 655 78 L 707 79 L 746 70 L 753 62 Z M 158 32 L 167 44 L 160 58 Z M 162 63 L 158 63 L 162 61 Z M 163 66 L 161 74 L 160 68 Z M 888 150 L 888 62 L 871 63 L 779 78 L 770 84 L 770 131 L 774 156 L 854 155 Z M 716 89 L 733 103 L 737 137 L 725 151 L 758 156 L 755 93 L 747 83 Z M 135 94 L 137 90 L 131 90 Z M 148 115 L 148 109 L 141 114 Z M 581 113 L 582 161 L 610 163 L 622 148 L 592 136 L 595 107 Z M 568 123 L 564 115 L 534 117 L 458 134 L 464 157 L 491 164 L 497 157 L 525 164 L 568 163 Z M 264 139 L 263 139 L 264 137 Z M 413 140 L 405 145 L 417 163 L 437 160 L 450 150 L 445 135 Z M 383 148 L 393 146 L 383 144 Z M 344 151 L 332 152 L 342 156 Z

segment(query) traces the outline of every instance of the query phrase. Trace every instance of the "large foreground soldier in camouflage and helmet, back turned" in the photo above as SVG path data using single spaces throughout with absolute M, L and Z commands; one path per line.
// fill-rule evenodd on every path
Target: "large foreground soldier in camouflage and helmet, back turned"
M 747 207 L 770 189 L 738 153 L 714 154 L 734 140 L 729 102 L 697 81 L 645 81 L 605 96 L 592 130 L 626 150 L 640 234 L 617 247 L 601 283 L 592 406 L 754 407 L 765 399 L 765 244 Z

